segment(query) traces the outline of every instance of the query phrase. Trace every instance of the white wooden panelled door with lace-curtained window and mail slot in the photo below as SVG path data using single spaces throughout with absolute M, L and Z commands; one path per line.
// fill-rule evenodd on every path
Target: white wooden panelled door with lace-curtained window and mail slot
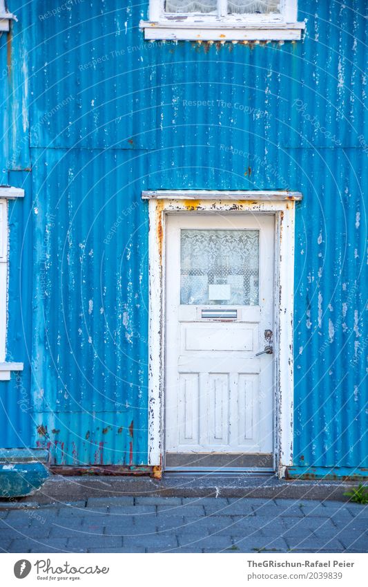
M 167 217 L 166 469 L 272 467 L 274 225 Z

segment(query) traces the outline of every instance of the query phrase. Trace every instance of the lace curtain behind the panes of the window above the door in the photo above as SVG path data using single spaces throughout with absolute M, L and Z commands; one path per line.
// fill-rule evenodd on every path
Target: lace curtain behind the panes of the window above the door
M 166 12 L 217 12 L 217 0 L 166 0 Z M 280 12 L 280 0 L 229 0 L 229 14 L 253 15 Z

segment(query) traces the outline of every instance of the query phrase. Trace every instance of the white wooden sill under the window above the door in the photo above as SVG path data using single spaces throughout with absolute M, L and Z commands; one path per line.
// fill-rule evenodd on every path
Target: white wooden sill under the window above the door
M 240 24 L 215 21 L 141 21 L 144 39 L 151 41 L 299 41 L 304 22 Z

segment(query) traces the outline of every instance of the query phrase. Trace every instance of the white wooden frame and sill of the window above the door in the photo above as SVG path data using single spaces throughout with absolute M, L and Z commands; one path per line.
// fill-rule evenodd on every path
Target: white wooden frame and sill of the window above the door
M 298 0 L 280 0 L 281 11 L 271 15 L 227 15 L 227 0 L 217 0 L 217 15 L 169 14 L 165 0 L 150 0 L 149 20 L 141 21 L 147 40 L 281 41 L 301 38 L 304 22 L 297 22 Z

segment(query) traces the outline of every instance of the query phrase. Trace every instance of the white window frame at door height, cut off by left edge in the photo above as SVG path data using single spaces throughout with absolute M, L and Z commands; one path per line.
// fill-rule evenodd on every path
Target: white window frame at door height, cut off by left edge
M 23 371 L 23 363 L 6 362 L 9 272 L 8 200 L 23 198 L 23 196 L 23 189 L 0 186 L 0 381 L 9 381 L 11 371 Z

